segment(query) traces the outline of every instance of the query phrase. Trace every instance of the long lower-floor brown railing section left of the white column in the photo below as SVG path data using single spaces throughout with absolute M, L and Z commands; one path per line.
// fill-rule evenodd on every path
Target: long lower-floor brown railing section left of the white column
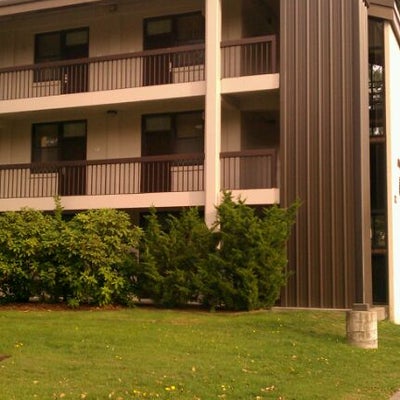
M 204 155 L 0 165 L 0 198 L 201 191 Z

